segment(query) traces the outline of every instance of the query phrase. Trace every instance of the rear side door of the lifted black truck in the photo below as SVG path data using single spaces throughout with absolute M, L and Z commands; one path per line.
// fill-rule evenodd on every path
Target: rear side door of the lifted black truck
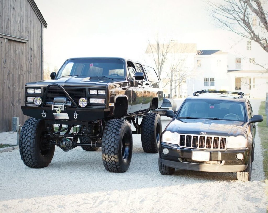
M 144 80 L 141 81 L 141 87 L 143 89 L 143 102 L 142 102 L 142 109 L 148 111 L 151 105 L 151 89 L 150 89 L 150 82 L 147 79 L 146 73 L 140 63 L 135 63 L 138 72 L 144 73 Z

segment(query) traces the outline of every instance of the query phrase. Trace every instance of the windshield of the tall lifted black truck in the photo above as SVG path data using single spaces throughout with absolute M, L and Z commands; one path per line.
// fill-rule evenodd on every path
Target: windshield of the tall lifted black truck
M 56 78 L 71 76 L 123 79 L 124 62 L 120 59 L 70 59 L 61 67 Z

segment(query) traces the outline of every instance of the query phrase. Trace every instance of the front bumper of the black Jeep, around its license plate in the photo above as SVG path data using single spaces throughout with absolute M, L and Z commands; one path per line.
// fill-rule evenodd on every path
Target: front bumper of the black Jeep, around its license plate
M 168 148 L 169 150 L 169 153 L 166 155 L 163 154 L 164 148 Z M 210 152 L 210 162 L 191 160 L 192 151 Z M 224 151 L 185 149 L 177 145 L 161 142 L 160 159 L 164 165 L 177 169 L 208 172 L 239 172 L 247 168 L 250 151 L 249 148 Z M 244 155 L 242 160 L 237 160 L 236 154 L 238 153 Z

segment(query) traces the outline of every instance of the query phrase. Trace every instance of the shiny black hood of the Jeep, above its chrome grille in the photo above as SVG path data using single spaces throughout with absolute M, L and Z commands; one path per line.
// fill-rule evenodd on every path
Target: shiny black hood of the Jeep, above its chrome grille
M 206 134 L 219 136 L 237 136 L 244 134 L 247 122 L 209 119 L 174 119 L 166 130 L 179 134 Z

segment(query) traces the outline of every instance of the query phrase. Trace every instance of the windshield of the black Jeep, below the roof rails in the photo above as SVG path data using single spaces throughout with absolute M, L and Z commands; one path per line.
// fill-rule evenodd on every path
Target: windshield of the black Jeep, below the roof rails
M 176 118 L 246 121 L 243 103 L 221 100 L 187 100 Z

